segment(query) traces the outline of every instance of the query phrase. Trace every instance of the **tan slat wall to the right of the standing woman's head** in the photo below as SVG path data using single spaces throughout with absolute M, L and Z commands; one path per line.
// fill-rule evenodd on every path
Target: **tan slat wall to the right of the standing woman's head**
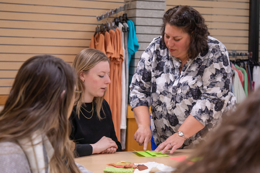
M 228 51 L 248 52 L 249 0 L 167 0 L 167 10 L 190 5 L 205 18 L 210 35 Z

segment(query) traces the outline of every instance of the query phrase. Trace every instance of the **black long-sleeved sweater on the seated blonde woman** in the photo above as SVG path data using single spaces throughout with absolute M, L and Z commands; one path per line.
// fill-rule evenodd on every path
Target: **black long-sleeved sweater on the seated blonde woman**
M 94 102 L 93 102 L 94 103 Z M 85 103 L 85 108 L 87 111 L 92 110 L 92 102 L 91 103 Z M 103 136 L 106 136 L 108 138 L 111 138 L 114 140 L 118 146 L 118 149 L 116 151 L 122 151 L 122 147 L 120 142 L 117 140 L 116 132 L 114 128 L 114 124 L 112 121 L 112 114 L 111 110 L 109 108 L 109 105 L 105 99 L 102 103 L 105 115 L 101 109 L 100 115 L 101 117 L 105 117 L 101 121 L 97 117 L 96 114 L 96 104 L 94 103 L 94 112 L 92 116 L 92 112 L 87 112 L 83 108 L 81 108 L 81 111 L 83 114 L 90 118 L 87 119 L 83 116 L 83 114 L 80 112 L 79 118 L 76 113 L 76 107 L 73 108 L 73 111 L 70 115 L 70 122 L 72 125 L 72 132 L 70 135 L 70 139 L 75 141 L 76 143 L 76 152 L 77 157 L 81 156 L 88 156 L 92 154 L 92 146 L 90 144 L 94 144 L 98 142 Z

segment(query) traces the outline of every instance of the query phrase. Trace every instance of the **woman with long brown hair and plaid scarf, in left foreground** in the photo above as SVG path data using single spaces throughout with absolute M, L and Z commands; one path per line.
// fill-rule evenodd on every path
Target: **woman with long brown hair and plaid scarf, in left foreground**
M 69 139 L 74 91 L 74 71 L 62 59 L 25 61 L 0 112 L 1 173 L 90 173 L 75 163 Z

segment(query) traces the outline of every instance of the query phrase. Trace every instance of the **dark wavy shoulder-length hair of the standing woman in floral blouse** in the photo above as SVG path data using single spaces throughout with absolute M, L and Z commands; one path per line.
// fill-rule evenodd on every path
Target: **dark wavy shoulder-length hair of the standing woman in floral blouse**
M 207 36 L 209 35 L 209 31 L 205 24 L 205 19 L 197 10 L 188 5 L 178 5 L 164 13 L 161 39 L 165 47 L 164 30 L 166 24 L 181 27 L 184 32 L 190 35 L 190 45 L 187 52 L 190 59 L 194 59 L 199 53 L 203 54 L 208 50 Z

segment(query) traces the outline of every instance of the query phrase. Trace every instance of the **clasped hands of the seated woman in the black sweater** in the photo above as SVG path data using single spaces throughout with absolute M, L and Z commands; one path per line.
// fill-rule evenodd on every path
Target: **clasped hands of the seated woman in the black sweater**
M 92 154 L 105 153 L 106 150 L 111 147 L 116 148 L 116 149 L 118 148 L 118 146 L 116 145 L 116 142 L 106 136 L 103 136 L 95 144 L 90 144 L 90 145 L 92 146 Z M 111 150 L 111 151 L 113 151 L 113 150 Z

